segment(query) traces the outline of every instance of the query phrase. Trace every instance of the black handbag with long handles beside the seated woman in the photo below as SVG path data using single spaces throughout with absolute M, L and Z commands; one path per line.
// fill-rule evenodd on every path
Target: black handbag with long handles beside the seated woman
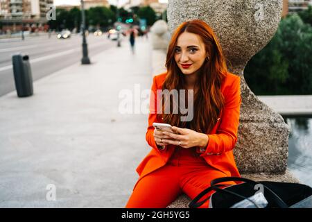
M 241 181 L 238 185 L 229 185 L 223 189 L 220 182 Z M 223 185 L 224 186 L 224 185 Z M 257 191 L 260 188 L 262 191 Z M 200 200 L 209 191 L 211 196 Z M 271 182 L 249 180 L 247 178 L 225 177 L 211 180 L 211 187 L 202 191 L 191 200 L 189 207 L 200 207 L 209 200 L 211 208 L 309 208 L 312 207 L 312 188 L 291 182 Z

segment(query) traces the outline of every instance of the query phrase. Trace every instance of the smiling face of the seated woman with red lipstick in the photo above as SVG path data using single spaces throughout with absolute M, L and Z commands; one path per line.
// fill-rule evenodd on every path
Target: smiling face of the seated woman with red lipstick
M 199 35 L 184 32 L 177 38 L 175 62 L 183 74 L 195 74 L 205 62 L 206 56 L 205 44 Z

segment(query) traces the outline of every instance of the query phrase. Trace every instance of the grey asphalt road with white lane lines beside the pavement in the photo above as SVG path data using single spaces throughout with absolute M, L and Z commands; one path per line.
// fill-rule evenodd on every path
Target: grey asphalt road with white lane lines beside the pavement
M 107 39 L 107 35 L 87 37 L 89 55 L 116 47 L 116 41 Z M 31 60 L 33 80 L 37 80 L 69 65 L 80 62 L 82 37 L 72 34 L 69 39 L 59 40 L 56 35 L 0 40 L 0 96 L 15 90 L 12 69 L 12 55 L 25 53 Z M 91 60 L 92 62 L 92 60 Z

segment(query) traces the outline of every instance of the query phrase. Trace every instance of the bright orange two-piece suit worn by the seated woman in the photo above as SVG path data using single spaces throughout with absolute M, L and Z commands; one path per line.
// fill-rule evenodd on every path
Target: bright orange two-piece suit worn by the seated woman
M 151 93 L 156 95 L 156 90 L 162 89 L 165 77 L 166 73 L 153 78 Z M 152 96 L 150 97 L 146 141 L 152 149 L 136 169 L 139 173 L 139 180 L 133 188 L 126 207 L 166 207 L 182 191 L 190 198 L 194 198 L 200 191 L 207 188 L 210 180 L 214 178 L 240 176 L 232 152 L 237 141 L 239 127 L 240 77 L 227 73 L 221 84 L 221 92 L 225 98 L 225 107 L 221 110 L 214 128 L 207 132 L 209 142 L 204 151 L 198 147 L 185 149 L 173 145 L 160 150 L 153 136 L 152 124 L 163 121 L 157 118 L 157 112 L 153 110 L 157 107 L 156 101 L 153 101 Z M 197 153 L 198 157 L 193 153 Z M 198 176 L 195 176 L 196 173 Z M 160 197 L 164 200 L 161 201 Z

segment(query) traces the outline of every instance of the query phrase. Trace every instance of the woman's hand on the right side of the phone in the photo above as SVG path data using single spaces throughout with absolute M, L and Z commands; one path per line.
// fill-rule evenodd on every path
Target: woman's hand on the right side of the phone
M 198 133 L 188 128 L 179 128 L 173 126 L 171 128 L 175 133 L 164 132 L 164 135 L 168 135 L 172 139 L 163 139 L 163 142 L 183 148 L 191 148 L 194 146 L 205 147 L 208 144 L 209 137 L 207 134 Z

